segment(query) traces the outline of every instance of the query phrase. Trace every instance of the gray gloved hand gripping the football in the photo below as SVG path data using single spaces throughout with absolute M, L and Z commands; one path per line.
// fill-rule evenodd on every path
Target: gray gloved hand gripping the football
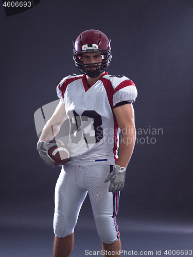
M 44 140 L 39 140 L 37 143 L 37 150 L 42 160 L 50 167 L 55 167 L 55 161 L 51 159 L 48 154 L 48 150 L 53 146 L 57 146 L 57 143 L 46 143 Z

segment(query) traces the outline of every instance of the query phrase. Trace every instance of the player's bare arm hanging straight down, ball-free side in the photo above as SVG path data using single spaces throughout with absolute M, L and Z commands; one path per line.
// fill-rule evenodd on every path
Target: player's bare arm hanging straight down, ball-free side
M 136 139 L 133 105 L 131 103 L 124 104 L 114 108 L 113 111 L 118 126 L 122 131 L 117 165 L 127 167 L 133 153 Z

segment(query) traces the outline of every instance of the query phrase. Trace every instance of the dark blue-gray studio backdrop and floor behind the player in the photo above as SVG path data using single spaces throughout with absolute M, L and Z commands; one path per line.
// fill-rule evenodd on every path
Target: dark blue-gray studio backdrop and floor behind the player
M 192 249 L 193 0 L 41 0 L 9 17 L 0 7 L 0 23 L 1 256 L 51 256 L 60 168 L 40 159 L 33 115 L 57 100 L 63 77 L 78 74 L 72 41 L 86 29 L 112 39 L 107 71 L 138 90 L 138 143 L 117 215 L 122 248 Z M 75 236 L 72 256 L 100 250 L 88 198 Z

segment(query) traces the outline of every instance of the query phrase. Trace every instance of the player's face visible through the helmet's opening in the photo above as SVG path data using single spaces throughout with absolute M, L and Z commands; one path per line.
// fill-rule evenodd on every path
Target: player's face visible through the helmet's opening
M 86 64 L 88 64 L 88 68 L 90 69 L 90 65 L 89 64 L 93 64 L 91 66 L 91 69 L 96 69 L 96 65 L 95 63 L 100 63 L 102 62 L 104 59 L 103 54 L 101 53 L 97 53 L 97 52 L 87 52 L 87 53 L 82 53 L 82 63 L 85 64 L 85 68 L 86 68 Z M 98 69 L 100 68 L 100 65 L 98 65 Z

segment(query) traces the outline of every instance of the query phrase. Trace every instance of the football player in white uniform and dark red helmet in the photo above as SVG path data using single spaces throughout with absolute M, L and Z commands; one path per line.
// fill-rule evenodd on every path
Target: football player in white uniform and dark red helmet
M 127 77 L 106 72 L 112 58 L 111 46 L 101 31 L 82 32 L 73 52 L 81 75 L 67 76 L 57 86 L 60 102 L 37 145 L 43 160 L 54 167 L 48 149 L 56 144 L 49 141 L 65 119 L 69 120 L 71 157 L 62 167 L 55 190 L 54 257 L 71 254 L 74 228 L 87 193 L 104 256 L 120 256 L 116 214 L 135 144 L 132 103 L 137 90 Z

